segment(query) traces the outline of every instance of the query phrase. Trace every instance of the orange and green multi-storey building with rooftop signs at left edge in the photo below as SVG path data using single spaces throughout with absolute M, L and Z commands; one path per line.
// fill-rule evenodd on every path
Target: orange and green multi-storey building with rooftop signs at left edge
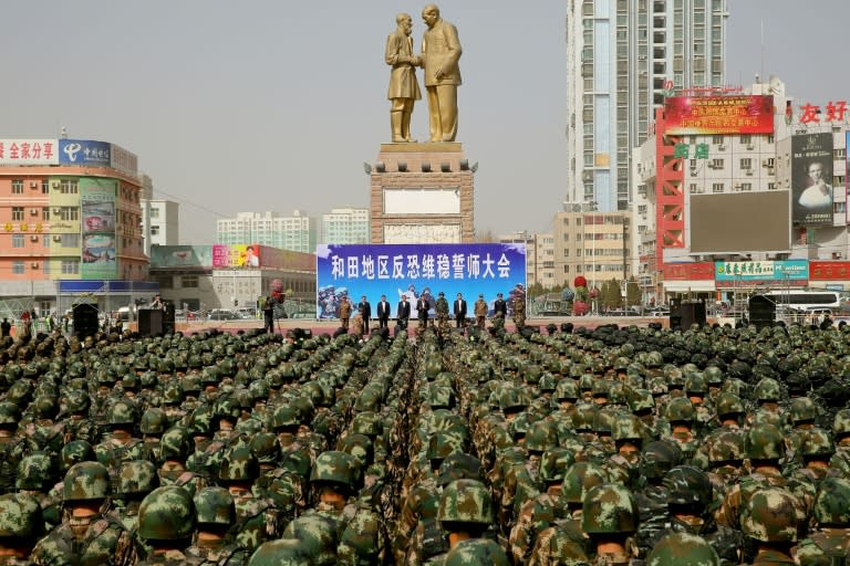
M 141 189 L 136 156 L 114 144 L 0 139 L 0 297 L 46 312 L 79 293 L 102 308 L 153 294 Z

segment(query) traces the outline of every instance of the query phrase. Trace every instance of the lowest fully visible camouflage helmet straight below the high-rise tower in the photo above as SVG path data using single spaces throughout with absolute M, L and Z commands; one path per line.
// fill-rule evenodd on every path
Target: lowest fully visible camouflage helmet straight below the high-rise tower
M 604 483 L 592 488 L 582 502 L 581 530 L 589 535 L 634 533 L 638 504 L 628 488 Z

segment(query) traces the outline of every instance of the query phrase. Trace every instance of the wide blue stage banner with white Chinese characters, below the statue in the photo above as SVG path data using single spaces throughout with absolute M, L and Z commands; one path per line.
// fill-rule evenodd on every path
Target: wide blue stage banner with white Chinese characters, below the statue
M 386 295 L 391 317 L 402 295 L 411 303 L 415 319 L 416 300 L 425 296 L 429 313 L 439 292 L 452 303 L 462 293 L 467 316 L 473 317 L 478 295 L 493 312 L 496 294 L 510 305 L 516 294 L 526 293 L 526 245 L 522 243 L 435 243 L 435 244 L 322 244 L 317 249 L 318 318 L 338 318 L 343 296 L 356 308 L 363 295 L 375 317 L 381 295 Z

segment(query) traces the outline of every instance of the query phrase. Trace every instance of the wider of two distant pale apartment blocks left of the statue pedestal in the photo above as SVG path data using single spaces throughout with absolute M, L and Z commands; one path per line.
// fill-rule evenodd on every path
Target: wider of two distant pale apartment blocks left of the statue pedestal
M 301 253 L 315 253 L 315 218 L 296 210 L 291 217 L 277 212 L 237 212 L 236 218 L 216 222 L 216 241 L 220 244 L 258 243 Z

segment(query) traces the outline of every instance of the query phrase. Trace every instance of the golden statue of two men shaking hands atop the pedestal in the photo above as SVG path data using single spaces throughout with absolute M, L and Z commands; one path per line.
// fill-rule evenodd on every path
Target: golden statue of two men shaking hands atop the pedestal
M 457 136 L 457 87 L 460 85 L 460 41 L 457 29 L 439 17 L 439 8 L 427 4 L 422 19 L 428 29 L 422 39 L 422 54 L 413 52 L 413 19 L 400 13 L 396 30 L 386 39 L 390 72 L 390 125 L 394 143 L 415 142 L 411 137 L 413 103 L 422 98 L 416 67 L 425 70 L 431 142 L 454 142 Z

